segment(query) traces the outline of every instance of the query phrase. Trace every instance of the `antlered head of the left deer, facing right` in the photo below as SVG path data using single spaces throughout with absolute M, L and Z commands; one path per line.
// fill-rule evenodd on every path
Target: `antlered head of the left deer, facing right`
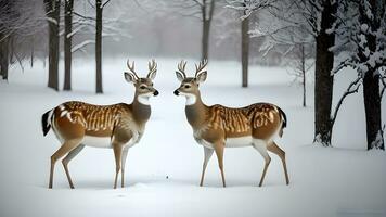
M 159 92 L 153 87 L 153 80 L 157 73 L 157 63 L 152 60 L 149 61 L 149 73 L 146 77 L 140 78 L 134 71 L 134 62 L 130 65 L 127 61 L 127 67 L 130 72 L 125 72 L 125 79 L 132 82 L 136 88 L 136 97 L 142 104 L 149 104 L 149 98 L 158 95 Z

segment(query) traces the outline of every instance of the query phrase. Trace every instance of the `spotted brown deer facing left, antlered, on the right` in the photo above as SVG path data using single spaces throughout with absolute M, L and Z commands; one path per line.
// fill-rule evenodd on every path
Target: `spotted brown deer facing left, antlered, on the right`
M 195 141 L 204 148 L 204 163 L 200 187 L 203 186 L 207 164 L 216 152 L 221 173 L 222 186 L 226 187 L 223 171 L 224 148 L 253 146 L 265 159 L 265 167 L 259 187 L 262 186 L 271 157 L 268 151 L 276 154 L 283 164 L 285 182 L 290 184 L 285 152 L 274 142 L 282 137 L 286 127 L 286 115 L 276 105 L 270 103 L 255 103 L 244 107 L 227 107 L 220 104 L 206 105 L 201 98 L 200 85 L 206 80 L 207 60 L 195 64 L 194 77 L 185 73 L 186 61 L 181 61 L 176 71 L 177 79 L 181 82 L 175 90 L 176 95 L 185 97 L 185 116 L 193 129 Z

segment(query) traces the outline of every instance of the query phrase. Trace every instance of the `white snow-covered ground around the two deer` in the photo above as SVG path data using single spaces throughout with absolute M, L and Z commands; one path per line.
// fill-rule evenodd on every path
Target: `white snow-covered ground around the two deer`
M 278 143 L 287 153 L 291 184 L 280 159 L 272 156 L 263 187 L 257 187 L 263 159 L 252 148 L 226 149 L 227 188 L 215 157 L 200 188 L 203 148 L 184 116 L 184 99 L 172 91 L 180 60 L 158 60 L 152 117 L 141 142 L 129 151 L 126 188 L 113 189 L 113 151 L 86 148 L 69 165 L 75 190 L 59 162 L 54 189 L 48 189 L 51 154 L 60 146 L 43 137 L 40 118 L 68 100 L 97 104 L 130 103 L 133 88 L 123 72 L 126 60 L 104 61 L 104 94 L 94 94 L 94 62 L 76 60 L 73 92 L 46 88 L 47 68 L 37 64 L 11 69 L 0 84 L 0 216 L 386 216 L 386 154 L 366 152 L 361 93 L 348 98 L 334 131 L 334 149 L 312 145 L 313 108 L 303 108 L 300 87 L 291 86 L 284 68 L 252 67 L 250 87 L 240 88 L 236 62 L 209 63 L 201 91 L 207 104 L 242 106 L 266 101 L 287 114 L 288 127 Z M 145 75 L 146 60 L 136 60 Z M 193 62 L 188 62 L 193 73 Z M 337 77 L 336 97 L 346 87 Z M 62 81 L 61 81 L 62 84 Z M 312 84 L 308 102 L 312 105 Z M 385 105 L 385 104 L 384 104 Z M 384 114 L 385 116 L 385 114 Z M 168 178 L 167 178 L 168 177 Z

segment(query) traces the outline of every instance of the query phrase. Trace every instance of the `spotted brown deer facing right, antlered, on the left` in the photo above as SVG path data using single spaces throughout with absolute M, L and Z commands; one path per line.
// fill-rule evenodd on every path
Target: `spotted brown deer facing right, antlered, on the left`
M 42 115 L 43 136 L 52 129 L 62 143 L 51 156 L 49 189 L 52 189 L 55 163 L 64 156 L 62 164 L 69 187 L 74 189 L 68 163 L 85 146 L 113 149 L 116 164 L 114 189 L 117 188 L 119 171 L 121 188 L 125 187 L 125 163 L 128 150 L 141 140 L 151 116 L 150 98 L 158 95 L 158 91 L 153 87 L 157 72 L 154 60 L 149 62 L 146 77 L 138 76 L 134 62 L 130 65 L 128 60 L 127 66 L 129 72 L 125 72 L 124 77 L 136 88 L 131 104 L 94 105 L 69 101 Z

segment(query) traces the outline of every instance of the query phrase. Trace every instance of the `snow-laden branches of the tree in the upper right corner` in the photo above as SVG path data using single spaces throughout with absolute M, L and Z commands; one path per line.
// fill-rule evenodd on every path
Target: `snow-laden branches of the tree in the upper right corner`
M 334 31 L 338 42 L 333 52 L 347 50 L 347 56 L 333 71 L 352 67 L 362 74 L 377 72 L 386 65 L 386 13 L 373 15 L 369 1 L 352 1 L 338 11 L 338 24 Z M 358 13 L 359 9 L 359 13 Z

